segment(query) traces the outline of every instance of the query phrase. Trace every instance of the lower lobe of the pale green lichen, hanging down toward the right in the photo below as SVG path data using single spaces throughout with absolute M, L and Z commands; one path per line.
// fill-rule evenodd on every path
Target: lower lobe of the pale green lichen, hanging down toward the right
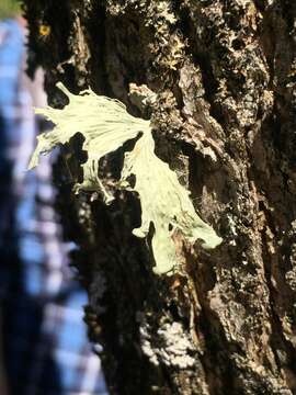
M 134 229 L 135 236 L 145 237 L 152 222 L 155 235 L 152 249 L 157 262 L 156 271 L 168 272 L 177 264 L 172 234 L 180 229 L 185 238 L 194 242 L 204 240 L 204 247 L 215 248 L 220 238 L 195 213 L 189 198 L 190 192 L 178 181 L 168 163 L 155 155 L 151 132 L 145 133 L 134 150 L 125 155 L 123 179 L 136 176 L 134 190 L 141 205 L 141 226 Z

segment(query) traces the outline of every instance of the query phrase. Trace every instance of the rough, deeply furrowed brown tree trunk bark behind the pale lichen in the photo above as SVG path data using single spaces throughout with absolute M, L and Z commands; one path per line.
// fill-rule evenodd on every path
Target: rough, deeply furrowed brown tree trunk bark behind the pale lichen
M 24 3 L 52 105 L 61 80 L 151 116 L 157 154 L 224 239 L 213 252 L 177 239 L 179 272 L 156 276 L 130 233 L 137 198 L 75 196 L 81 142 L 67 148 L 59 203 L 110 393 L 296 394 L 296 3 Z M 141 105 L 147 88 L 157 99 Z M 122 157 L 105 159 L 109 177 Z

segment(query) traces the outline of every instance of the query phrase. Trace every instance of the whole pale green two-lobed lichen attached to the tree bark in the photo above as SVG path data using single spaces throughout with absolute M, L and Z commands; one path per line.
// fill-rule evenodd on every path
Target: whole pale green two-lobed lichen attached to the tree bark
M 179 183 L 177 174 L 156 156 L 149 121 L 132 116 L 123 103 L 99 97 L 90 89 L 76 95 L 61 83 L 58 87 L 68 95 L 69 104 L 62 110 L 46 108 L 36 111 L 56 126 L 38 136 L 30 168 L 38 163 L 41 154 L 49 153 L 58 144 L 66 144 L 80 132 L 84 137 L 82 148 L 88 159 L 82 165 L 83 182 L 76 190 L 100 190 L 109 203 L 113 196 L 107 194 L 99 179 L 99 160 L 141 133 L 134 149 L 125 155 L 118 187 L 136 191 L 140 200 L 141 226 L 133 230 L 134 235 L 147 236 L 150 224 L 153 224 L 155 272 L 168 273 L 178 264 L 172 239 L 175 229 L 190 242 L 201 239 L 205 248 L 215 248 L 220 244 L 221 239 L 214 229 L 196 214 L 190 193 Z M 136 180 L 134 188 L 128 183 L 132 174 Z

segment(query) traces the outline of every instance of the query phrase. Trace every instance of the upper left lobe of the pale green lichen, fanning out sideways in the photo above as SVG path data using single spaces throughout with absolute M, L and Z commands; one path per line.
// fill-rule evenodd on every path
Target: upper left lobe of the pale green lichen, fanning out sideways
M 57 87 L 67 94 L 70 102 L 62 110 L 49 106 L 36 110 L 37 114 L 44 115 L 56 126 L 52 132 L 37 137 L 38 144 L 29 167 L 33 168 L 38 163 L 41 154 L 49 153 L 58 144 L 68 143 L 77 132 L 81 132 L 84 137 L 82 148 L 88 153 L 88 160 L 82 165 L 83 182 L 76 185 L 76 191 L 100 189 L 109 203 L 113 198 L 98 177 L 99 160 L 140 132 L 150 131 L 149 121 L 129 115 L 123 103 L 100 97 L 90 89 L 77 95 L 69 92 L 61 82 Z

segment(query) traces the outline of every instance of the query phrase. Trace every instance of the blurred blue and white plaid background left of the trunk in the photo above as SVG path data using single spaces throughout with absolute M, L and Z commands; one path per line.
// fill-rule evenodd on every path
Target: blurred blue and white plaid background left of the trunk
M 43 70 L 26 76 L 26 21 L 0 0 L 0 394 L 106 394 L 83 323 L 87 293 L 69 267 L 55 208 L 54 156 L 27 171 L 36 136 L 52 125 Z M 95 350 L 100 349 L 95 345 Z

